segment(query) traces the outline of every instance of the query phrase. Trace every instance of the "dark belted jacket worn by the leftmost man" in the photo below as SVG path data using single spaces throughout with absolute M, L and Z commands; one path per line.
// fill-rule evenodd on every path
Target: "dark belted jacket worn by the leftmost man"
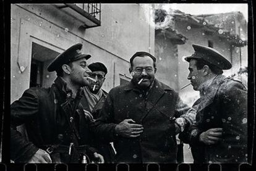
M 84 145 L 83 152 L 92 157 L 96 149 L 90 146 L 92 135 L 88 129 L 88 120 L 83 114 L 80 99 L 70 98 L 71 93 L 66 89 L 64 81 L 58 77 L 51 88 L 30 88 L 11 104 L 13 161 L 27 162 L 38 148 L 46 150 L 49 146 L 59 144 L 62 149 L 56 149 L 58 154 L 56 151 L 50 154 L 53 162 L 79 162 L 74 153 L 72 157 L 68 154 L 66 147 L 70 143 L 74 143 L 74 147 Z M 76 101 L 77 107 L 74 104 Z M 23 123 L 29 141 L 16 130 Z

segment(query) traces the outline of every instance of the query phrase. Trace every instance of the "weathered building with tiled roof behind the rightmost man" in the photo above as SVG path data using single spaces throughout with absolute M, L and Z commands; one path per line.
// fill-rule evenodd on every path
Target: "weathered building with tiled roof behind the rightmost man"
M 166 83 L 179 91 L 190 106 L 198 99 L 198 92 L 192 86 L 180 89 L 189 83 L 189 63 L 184 58 L 194 53 L 192 44 L 221 52 L 233 64 L 231 70 L 224 70 L 226 76 L 247 67 L 247 22 L 241 12 L 190 15 L 170 10 L 160 17 L 163 20 L 158 22 L 162 27 L 156 27 L 155 31 L 155 55 L 164 61 L 158 59 L 158 67 L 163 69 L 158 74 L 165 73 Z

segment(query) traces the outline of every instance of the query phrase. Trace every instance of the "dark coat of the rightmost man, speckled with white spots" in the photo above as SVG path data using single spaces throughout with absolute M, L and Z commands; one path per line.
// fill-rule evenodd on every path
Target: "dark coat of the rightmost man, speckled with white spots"
M 190 128 L 189 140 L 194 162 L 247 162 L 245 86 L 238 80 L 218 75 L 194 107 L 197 109 L 196 123 Z M 223 128 L 220 143 L 206 145 L 198 141 L 198 136 L 210 128 Z

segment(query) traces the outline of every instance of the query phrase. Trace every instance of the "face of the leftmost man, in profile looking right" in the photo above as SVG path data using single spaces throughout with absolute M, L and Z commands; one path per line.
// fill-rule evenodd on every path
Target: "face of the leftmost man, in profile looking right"
M 70 65 L 70 81 L 75 85 L 88 86 L 89 81 L 87 77 L 90 72 L 91 70 L 88 69 L 85 58 L 75 60 Z

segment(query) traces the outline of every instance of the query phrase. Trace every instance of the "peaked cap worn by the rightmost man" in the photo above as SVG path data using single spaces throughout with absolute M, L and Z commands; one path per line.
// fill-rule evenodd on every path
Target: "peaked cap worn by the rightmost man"
M 199 44 L 192 44 L 195 52 L 192 56 L 185 57 L 185 60 L 188 62 L 191 59 L 203 59 L 209 62 L 212 65 L 215 65 L 221 70 L 229 70 L 232 67 L 231 62 L 226 59 L 220 52 L 216 51 L 216 49 L 202 46 Z

